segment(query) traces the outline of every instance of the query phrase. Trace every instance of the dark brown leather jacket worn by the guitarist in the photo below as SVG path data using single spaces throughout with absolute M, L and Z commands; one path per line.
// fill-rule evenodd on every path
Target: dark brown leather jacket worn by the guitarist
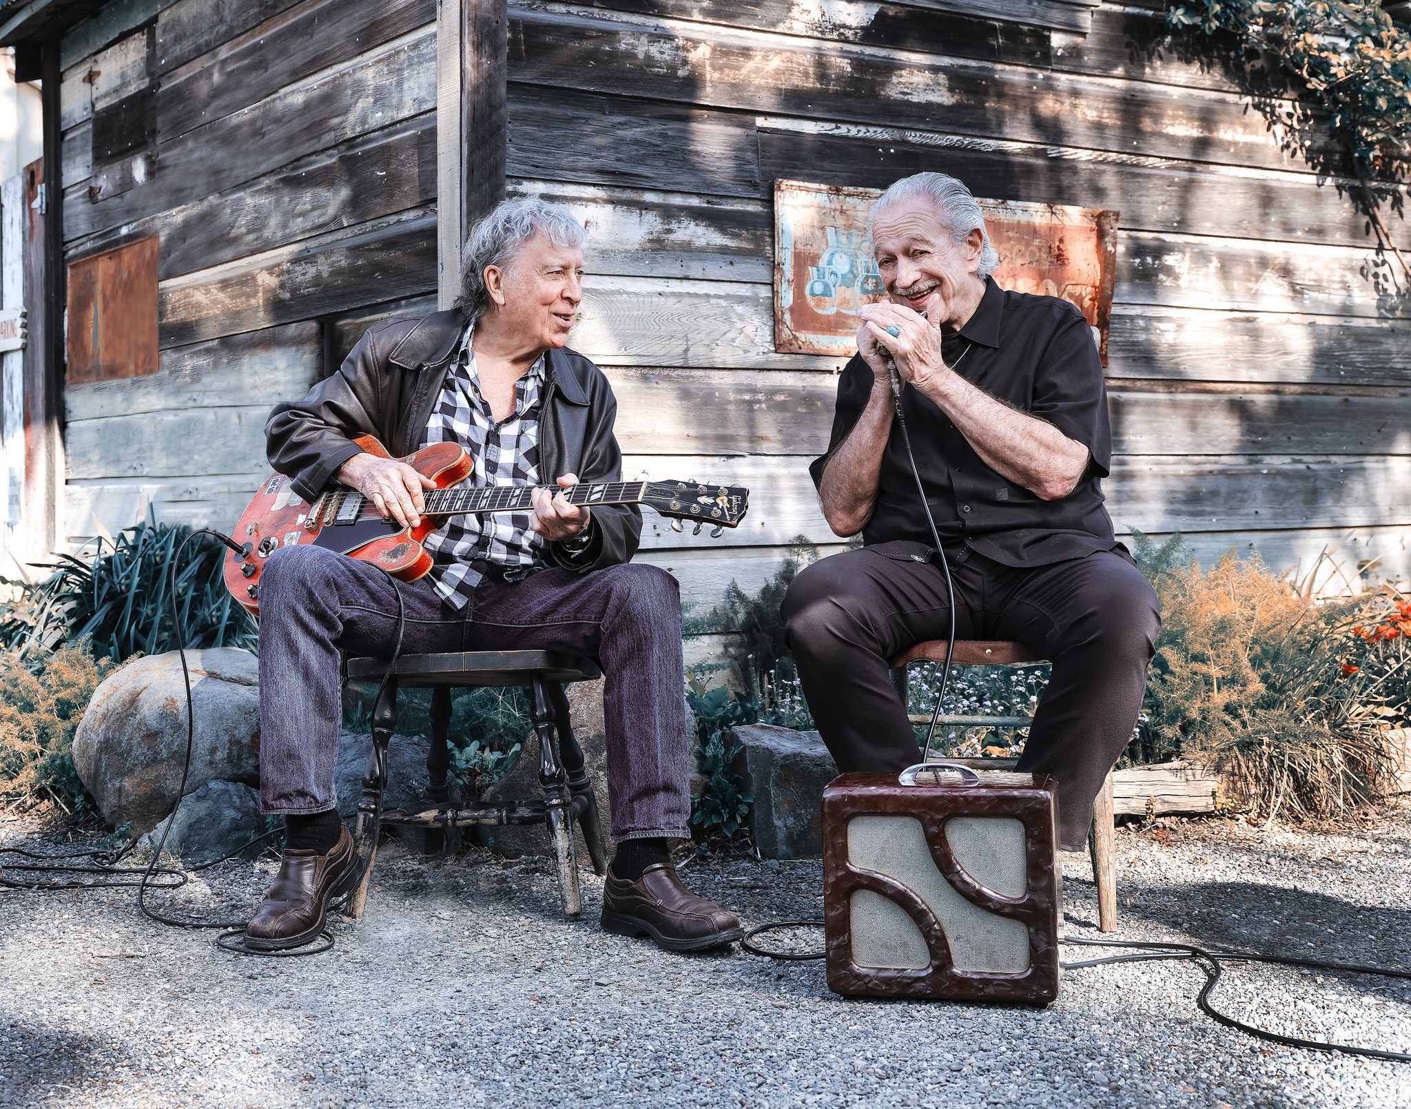
M 360 452 L 351 436 L 375 435 L 392 454 L 411 454 L 420 446 L 464 326 L 459 312 L 433 312 L 370 330 L 336 374 L 270 413 L 270 464 L 312 501 Z M 583 481 L 621 481 L 622 453 L 612 435 L 617 401 L 602 371 L 571 350 L 550 350 L 545 378 L 540 480 L 577 474 Z M 557 543 L 547 543 L 546 560 L 584 573 L 628 562 L 642 535 L 642 512 L 635 505 L 595 505 L 591 528 L 584 553 L 570 559 Z

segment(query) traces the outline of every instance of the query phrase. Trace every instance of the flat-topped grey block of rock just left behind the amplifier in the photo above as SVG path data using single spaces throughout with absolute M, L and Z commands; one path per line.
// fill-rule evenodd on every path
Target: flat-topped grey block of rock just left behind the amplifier
M 817 858 L 823 854 L 823 787 L 838 768 L 818 732 L 752 724 L 734 728 L 745 745 L 745 790 L 755 848 L 766 859 Z

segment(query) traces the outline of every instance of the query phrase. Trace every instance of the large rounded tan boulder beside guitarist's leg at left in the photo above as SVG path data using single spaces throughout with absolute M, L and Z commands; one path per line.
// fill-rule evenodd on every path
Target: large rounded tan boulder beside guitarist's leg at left
M 258 663 L 248 650 L 188 650 L 195 739 L 186 793 L 260 782 Z M 135 659 L 93 693 L 73 735 L 73 766 L 113 827 L 147 831 L 179 800 L 186 687 L 176 652 Z

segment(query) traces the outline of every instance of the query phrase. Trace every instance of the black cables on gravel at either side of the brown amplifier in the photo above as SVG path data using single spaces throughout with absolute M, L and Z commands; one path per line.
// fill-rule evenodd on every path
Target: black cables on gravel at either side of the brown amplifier
M 759 927 L 751 928 L 745 933 L 739 945 L 745 948 L 751 955 L 762 955 L 770 959 L 780 959 L 783 962 L 806 962 L 809 959 L 827 958 L 827 951 L 773 951 L 768 947 L 761 947 L 755 943 L 756 935 L 763 935 L 772 931 L 780 931 L 783 928 L 821 928 L 821 920 L 779 920 L 773 924 L 761 924 Z M 1328 962 L 1325 959 L 1304 959 L 1295 958 L 1292 955 L 1260 955 L 1260 954 L 1246 954 L 1240 951 L 1211 951 L 1204 947 L 1197 947 L 1195 944 L 1167 944 L 1157 941 L 1137 941 L 1137 940 L 1089 940 L 1086 937 L 1078 935 L 1062 935 L 1060 943 L 1064 944 L 1082 944 L 1085 947 L 1122 947 L 1132 948 L 1130 955 L 1103 955 L 1095 959 L 1081 959 L 1078 962 L 1064 962 L 1062 968 L 1065 971 L 1078 971 L 1085 966 L 1106 966 L 1113 962 L 1154 962 L 1154 961 L 1174 961 L 1174 962 L 1194 962 L 1201 968 L 1205 975 L 1205 985 L 1201 986 L 1201 992 L 1195 998 L 1195 1003 L 1199 1006 L 1201 1012 L 1205 1013 L 1211 1020 L 1223 1024 L 1228 1029 L 1235 1029 L 1245 1033 L 1246 1036 L 1253 1036 L 1257 1040 L 1267 1040 L 1268 1043 L 1283 1044 L 1284 1047 L 1300 1047 L 1305 1051 L 1335 1051 L 1346 1055 L 1363 1055 L 1366 1058 L 1387 1060 L 1390 1062 L 1411 1062 L 1411 1053 L 1407 1051 L 1386 1051 L 1376 1047 L 1355 1047 L 1353 1044 L 1333 1044 L 1324 1040 L 1304 1040 L 1298 1036 L 1284 1036 L 1277 1031 L 1268 1031 L 1267 1029 L 1259 1029 L 1253 1024 L 1246 1024 L 1243 1020 L 1222 1013 L 1211 1003 L 1211 995 L 1215 992 L 1215 986 L 1221 981 L 1221 974 L 1225 964 L 1230 962 L 1263 962 L 1273 966 L 1300 966 L 1311 971 L 1326 971 L 1329 974 L 1356 974 L 1367 975 L 1370 978 L 1403 978 L 1411 981 L 1411 971 L 1397 971 L 1387 966 L 1370 966 L 1366 964 L 1356 962 Z

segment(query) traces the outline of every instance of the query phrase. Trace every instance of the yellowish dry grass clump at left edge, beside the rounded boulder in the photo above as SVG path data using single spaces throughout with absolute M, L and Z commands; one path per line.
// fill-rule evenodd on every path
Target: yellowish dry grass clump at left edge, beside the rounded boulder
M 114 663 L 95 660 L 79 641 L 45 655 L 34 670 L 0 655 L 0 801 L 18 808 L 86 808 L 73 769 L 73 732 L 93 690 Z

